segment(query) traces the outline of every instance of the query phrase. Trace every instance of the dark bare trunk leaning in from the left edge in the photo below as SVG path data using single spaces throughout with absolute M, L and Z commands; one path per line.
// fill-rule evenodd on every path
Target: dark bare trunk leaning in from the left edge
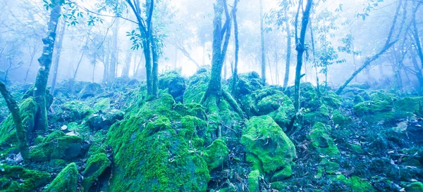
M 18 104 L 13 99 L 13 96 L 7 91 L 6 86 L 3 82 L 0 81 L 0 92 L 3 95 L 4 100 L 6 101 L 8 109 L 12 113 L 13 122 L 16 127 L 16 138 L 18 139 L 18 148 L 20 155 L 22 155 L 23 160 L 30 160 L 30 151 L 28 148 L 27 142 L 27 131 L 22 125 L 22 118 L 20 117 L 20 111 Z

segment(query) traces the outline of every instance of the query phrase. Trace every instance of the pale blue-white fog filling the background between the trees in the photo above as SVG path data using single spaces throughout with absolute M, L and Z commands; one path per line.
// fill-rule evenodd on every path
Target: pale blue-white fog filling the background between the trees
M 108 64 L 104 63 L 110 63 L 111 54 L 114 53 L 117 58 L 116 77 L 125 75 L 123 71 L 126 70 L 129 77 L 145 79 L 145 70 L 142 70 L 145 65 L 142 47 L 131 49 L 135 42 L 128 36 L 128 33 L 133 31 L 139 34 L 137 19 L 125 1 L 117 2 L 118 6 L 121 6 L 118 17 L 113 10 L 116 5 L 107 5 L 106 1 L 69 2 L 72 3 L 69 4 L 71 6 L 63 6 L 62 13 L 66 17 L 61 16 L 57 30 L 56 46 L 61 48 L 55 47 L 53 56 L 53 63 L 59 60 L 56 81 L 73 79 L 75 76 L 78 81 L 106 82 L 104 74 L 107 72 L 104 68 Z M 283 24 L 278 25 L 281 18 L 277 17 L 283 15 L 281 2 L 283 1 L 263 0 L 264 60 L 268 84 L 282 85 L 286 74 L 287 33 Z M 421 67 L 417 64 L 415 68 L 412 63 L 413 57 L 417 58 L 417 52 L 414 51 L 415 38 L 411 25 L 413 7 L 417 2 L 406 2 L 400 9 L 393 32 L 393 37 L 398 39 L 398 43 L 360 72 L 354 82 L 389 85 L 401 82 L 403 87 L 419 88 L 417 78 L 413 74 L 419 72 Z M 44 4 L 43 1 L 36 0 L 1 1 L 0 69 L 2 73 L 7 72 L 12 83 L 27 84 L 35 81 L 39 68 L 37 58 L 42 54 L 41 40 L 47 32 L 49 20 L 49 13 Z M 228 4 L 233 6 L 231 1 L 228 1 Z M 162 45 L 159 73 L 178 69 L 183 76 L 190 77 L 199 66 L 211 65 L 213 5 L 212 0 L 163 0 L 157 3 L 153 22 Z M 293 2 L 288 8 L 291 38 L 294 37 L 297 5 L 298 2 Z M 302 65 L 302 73 L 305 74 L 302 82 L 316 84 L 316 74 L 321 81 L 326 81 L 324 71 L 327 70 L 328 84 L 343 84 L 367 58 L 383 49 L 397 5 L 398 1 L 391 0 L 314 2 L 310 15 L 314 25 L 314 51 L 324 50 L 323 46 L 326 44 L 333 49 L 332 56 L 336 58 L 331 58 L 328 65 L 316 65 L 317 62 L 312 56 L 309 30 L 305 39 L 307 50 Z M 238 72 L 255 71 L 262 74 L 259 1 L 242 0 L 237 10 L 240 45 Z M 362 17 L 364 14 L 365 18 Z M 417 10 L 415 19 L 421 19 L 422 15 L 421 11 Z M 94 17 L 94 20 L 90 21 L 90 17 Z M 419 33 L 422 32 L 421 25 L 421 22 L 417 21 Z M 233 34 L 233 29 L 231 30 Z M 353 46 L 355 52 L 353 54 L 339 51 L 339 47 L 345 46 L 342 39 L 348 35 L 353 38 L 350 41 L 350 46 Z M 231 65 L 235 60 L 234 35 L 230 38 L 222 72 L 223 78 L 226 79 L 232 76 Z M 60 39 L 63 41 L 61 44 L 58 42 Z M 292 41 L 295 42 L 295 39 Z M 297 62 L 295 45 L 291 48 L 289 85 L 294 84 Z M 404 49 L 407 50 L 405 53 Z M 54 74 L 54 68 L 52 65 L 51 74 Z M 400 77 L 394 77 L 396 74 Z M 53 75 L 50 75 L 49 84 L 53 81 L 52 78 Z

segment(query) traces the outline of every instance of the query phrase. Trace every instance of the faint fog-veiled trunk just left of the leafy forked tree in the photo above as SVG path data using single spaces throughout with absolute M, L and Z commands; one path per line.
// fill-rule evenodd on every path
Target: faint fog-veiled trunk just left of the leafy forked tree
M 114 82 L 116 78 L 116 66 L 118 65 L 118 33 L 119 33 L 119 18 L 115 18 L 115 26 L 113 30 L 113 39 L 111 45 L 111 57 L 109 63 L 109 75 L 107 75 L 107 82 L 109 84 Z

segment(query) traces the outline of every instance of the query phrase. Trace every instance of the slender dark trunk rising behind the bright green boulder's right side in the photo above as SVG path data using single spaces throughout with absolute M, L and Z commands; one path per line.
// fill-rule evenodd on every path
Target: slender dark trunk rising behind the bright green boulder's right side
M 294 91 L 294 107 L 295 111 L 300 111 L 300 80 L 301 80 L 301 69 L 302 69 L 302 56 L 305 51 L 305 34 L 307 32 L 307 25 L 309 23 L 309 16 L 310 16 L 310 10 L 312 8 L 313 0 L 307 0 L 307 6 L 305 7 L 305 11 L 302 15 L 302 26 L 301 26 L 301 32 L 300 32 L 300 39 L 297 39 L 298 42 L 297 47 L 295 50 L 297 50 L 297 66 L 295 68 L 295 91 Z M 295 26 L 298 27 L 298 26 Z M 298 37 L 298 35 L 296 35 Z

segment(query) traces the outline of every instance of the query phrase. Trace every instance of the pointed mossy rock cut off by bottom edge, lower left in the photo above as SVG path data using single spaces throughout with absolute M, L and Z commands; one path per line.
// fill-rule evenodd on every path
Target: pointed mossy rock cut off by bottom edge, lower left
M 66 166 L 57 177 L 51 181 L 45 192 L 76 192 L 78 184 L 78 169 L 75 162 Z

